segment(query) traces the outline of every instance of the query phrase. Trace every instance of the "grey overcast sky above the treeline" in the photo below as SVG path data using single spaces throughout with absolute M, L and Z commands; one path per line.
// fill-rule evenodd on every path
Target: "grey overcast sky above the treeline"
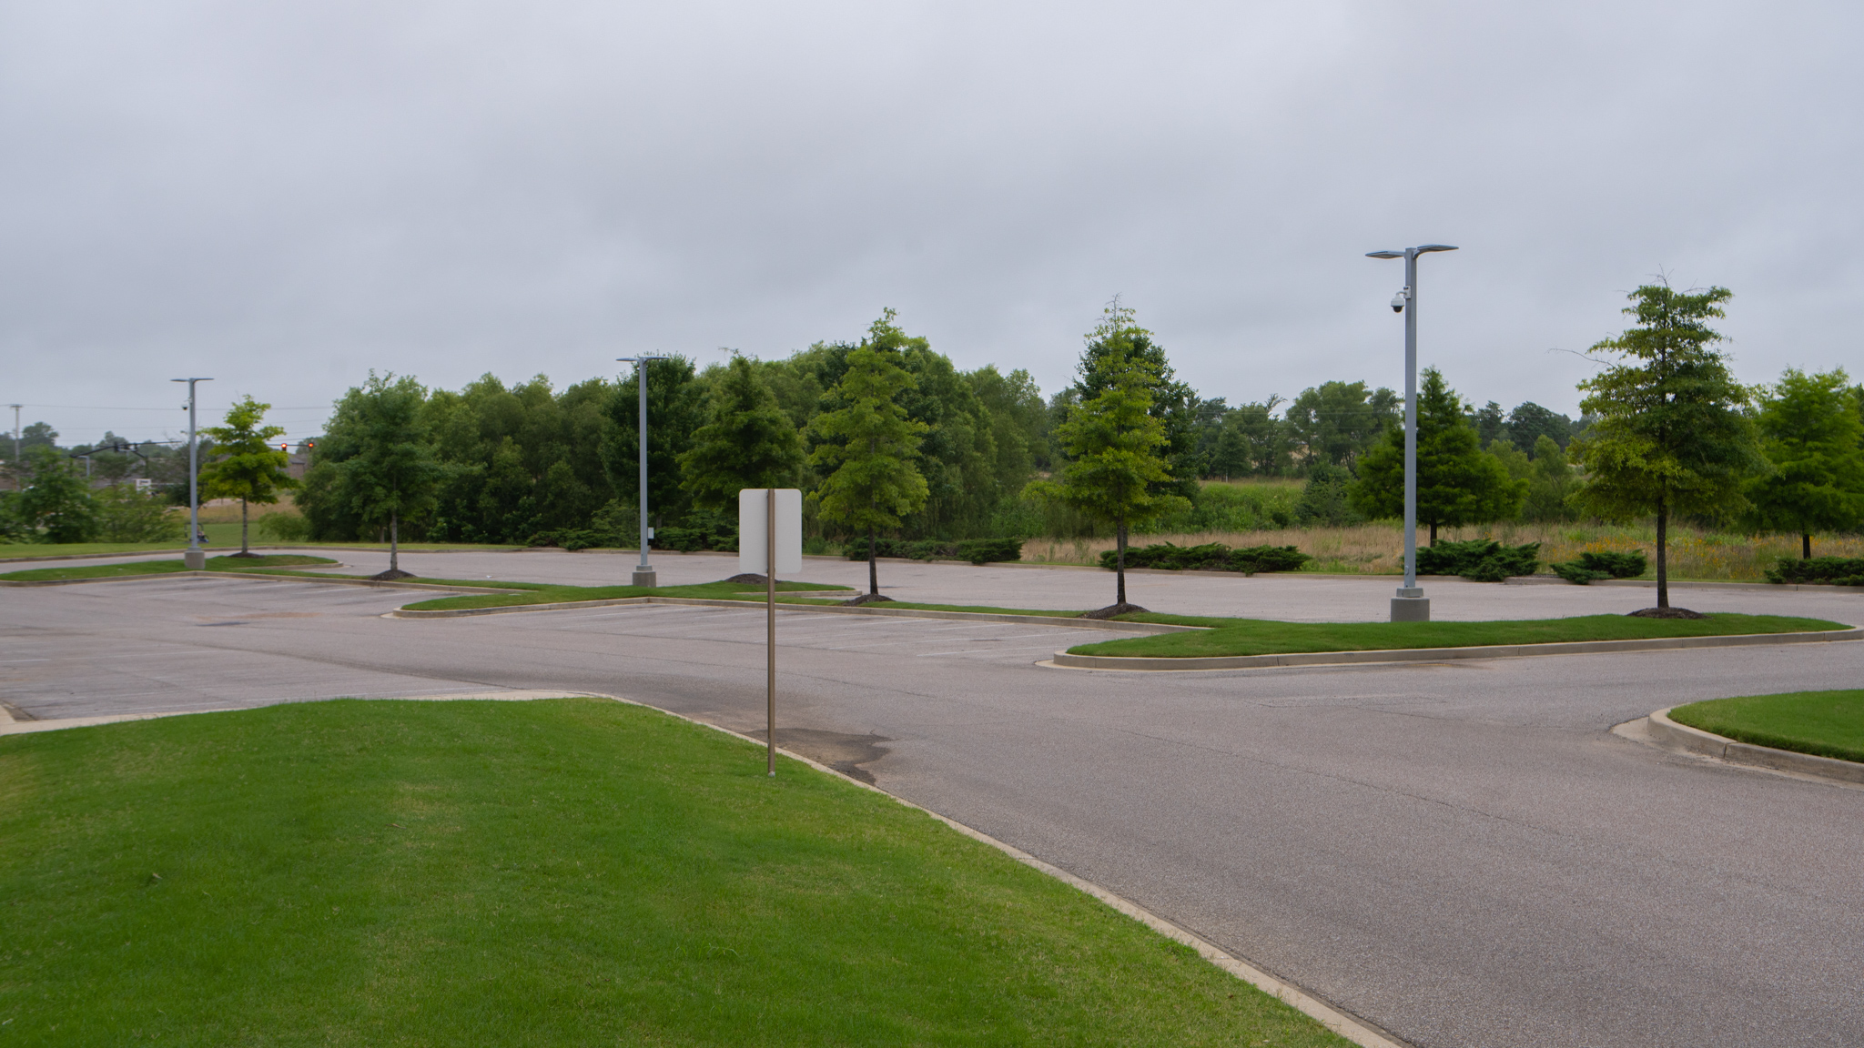
M 1864 371 L 1864 6 L 0 0 L 0 397 L 63 442 L 371 367 L 557 384 L 882 308 L 1066 384 L 1113 295 L 1230 403 L 1420 356 L 1573 412 L 1655 274 Z M 108 410 L 106 410 L 108 408 Z M 7 425 L 11 418 L 6 420 Z M 205 425 L 203 418 L 203 425 Z

